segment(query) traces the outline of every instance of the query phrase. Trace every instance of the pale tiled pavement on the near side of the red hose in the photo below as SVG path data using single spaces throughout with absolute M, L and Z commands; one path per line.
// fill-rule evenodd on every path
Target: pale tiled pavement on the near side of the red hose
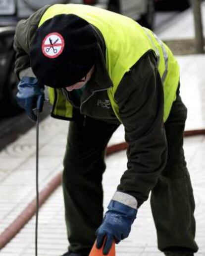
M 45 122 L 50 122 L 48 118 Z M 43 125 L 43 124 L 42 124 Z M 123 138 L 123 130 L 118 130 L 115 140 Z M 113 139 L 113 141 L 115 141 Z M 57 143 L 57 139 L 52 143 Z M 197 242 L 200 251 L 197 255 L 205 255 L 205 136 L 197 136 L 185 139 L 185 153 L 188 167 L 191 173 L 195 198 L 197 220 Z M 48 162 L 47 162 L 48 163 Z M 122 172 L 126 168 L 126 153 L 120 152 L 106 159 L 107 170 L 103 177 L 105 190 L 104 207 L 115 191 Z M 34 170 L 28 170 L 27 172 Z M 43 172 L 43 170 L 40 170 Z M 16 173 L 18 170 L 15 171 Z M 24 180 L 24 178 L 22 178 Z M 26 179 L 24 180 L 26 182 Z M 43 182 L 43 181 L 42 181 Z M 34 186 L 35 180 L 33 180 Z M 23 188 L 27 184 L 21 184 Z M 15 188 L 15 192 L 20 189 Z M 34 188 L 33 188 L 34 190 Z M 9 193 L 12 197 L 11 192 Z M 22 204 L 22 202 L 20 203 Z M 39 216 L 39 256 L 59 256 L 66 251 L 67 241 L 63 216 L 62 188 L 59 187 L 43 205 Z M 35 218 L 23 228 L 21 232 L 1 250 L 1 256 L 29 256 L 34 255 L 34 230 Z M 117 255 L 120 256 L 160 256 L 156 247 L 156 234 L 151 215 L 149 201 L 146 202 L 138 213 L 137 220 L 132 228 L 128 239 L 116 247 Z

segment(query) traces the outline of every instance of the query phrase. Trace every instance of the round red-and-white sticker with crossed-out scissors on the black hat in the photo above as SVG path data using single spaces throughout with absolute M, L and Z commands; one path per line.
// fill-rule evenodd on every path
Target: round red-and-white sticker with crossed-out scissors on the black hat
M 51 59 L 58 57 L 64 49 L 64 38 L 57 32 L 48 34 L 42 43 L 43 54 Z

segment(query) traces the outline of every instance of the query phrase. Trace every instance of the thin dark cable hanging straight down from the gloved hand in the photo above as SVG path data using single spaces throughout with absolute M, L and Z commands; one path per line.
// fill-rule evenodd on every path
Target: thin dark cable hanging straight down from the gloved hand
M 36 121 L 36 228 L 35 228 L 35 256 L 38 256 L 38 216 L 39 216 L 39 110 Z

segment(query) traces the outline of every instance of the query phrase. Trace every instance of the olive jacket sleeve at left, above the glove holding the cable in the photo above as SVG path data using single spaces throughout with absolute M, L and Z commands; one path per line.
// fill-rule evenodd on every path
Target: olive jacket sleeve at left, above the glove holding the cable
M 20 73 L 24 72 L 24 70 L 29 76 L 34 76 L 30 68 L 29 51 L 36 30 L 38 29 L 39 21 L 49 6 L 46 5 L 39 9 L 28 19 L 20 20 L 16 26 L 13 47 L 16 52 L 15 73 L 18 79 L 23 76 Z

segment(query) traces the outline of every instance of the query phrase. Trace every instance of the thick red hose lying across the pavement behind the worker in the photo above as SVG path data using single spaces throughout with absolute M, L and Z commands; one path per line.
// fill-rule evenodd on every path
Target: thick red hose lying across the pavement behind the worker
M 184 136 L 205 135 L 205 129 L 185 131 Z M 106 156 L 113 153 L 126 150 L 127 143 L 122 142 L 107 147 Z M 51 193 L 60 185 L 62 173 L 58 173 L 47 186 L 39 193 L 39 206 L 41 206 L 51 195 Z M 28 206 L 18 215 L 18 217 L 0 234 L 0 249 L 2 249 L 33 217 L 36 212 L 36 198 L 34 198 Z

